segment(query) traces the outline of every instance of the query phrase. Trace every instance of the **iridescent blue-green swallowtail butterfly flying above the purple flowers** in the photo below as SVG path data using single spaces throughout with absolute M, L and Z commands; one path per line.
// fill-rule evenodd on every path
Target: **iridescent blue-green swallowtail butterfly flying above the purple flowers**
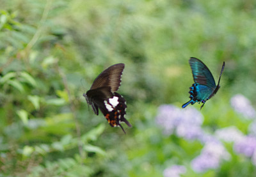
M 201 102 L 203 105 L 200 109 L 202 109 L 205 102 L 214 96 L 214 94 L 216 94 L 220 88 L 220 78 L 225 67 L 225 62 L 223 62 L 222 65 L 218 85 L 216 85 L 212 73 L 208 67 L 205 66 L 201 60 L 191 57 L 189 59 L 189 65 L 191 67 L 195 83 L 193 83 L 192 87 L 189 87 L 190 100 L 183 104 L 182 108 L 186 108 L 186 106 L 188 106 L 190 103 L 193 105 L 196 102 Z

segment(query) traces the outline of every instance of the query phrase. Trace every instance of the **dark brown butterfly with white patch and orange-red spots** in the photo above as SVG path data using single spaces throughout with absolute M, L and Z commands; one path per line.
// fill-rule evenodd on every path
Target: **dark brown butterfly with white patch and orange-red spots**
M 88 105 L 92 106 L 95 115 L 99 115 L 99 110 L 108 120 L 111 127 L 124 128 L 120 122 L 125 122 L 129 127 L 132 125 L 125 119 L 127 108 L 124 97 L 116 93 L 121 84 L 121 77 L 124 64 L 115 64 L 108 67 L 93 81 L 90 90 L 83 94 Z M 125 131 L 124 131 L 125 133 Z

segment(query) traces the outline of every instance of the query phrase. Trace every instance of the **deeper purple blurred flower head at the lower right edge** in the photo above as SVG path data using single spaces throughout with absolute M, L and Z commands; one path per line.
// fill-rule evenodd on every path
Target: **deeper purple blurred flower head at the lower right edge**
M 256 150 L 256 138 L 252 136 L 244 136 L 244 138 L 235 142 L 234 150 L 237 153 L 243 153 L 246 157 L 252 157 Z

